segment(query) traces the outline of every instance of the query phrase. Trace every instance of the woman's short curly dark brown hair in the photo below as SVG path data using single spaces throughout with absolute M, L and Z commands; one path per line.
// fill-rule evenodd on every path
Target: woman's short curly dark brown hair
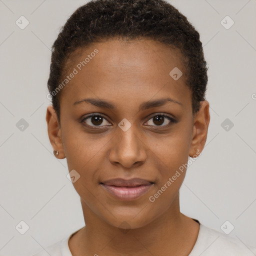
M 52 92 L 63 77 L 70 54 L 108 38 L 147 38 L 179 49 L 192 92 L 193 114 L 200 109 L 207 67 L 199 33 L 183 14 L 164 0 L 90 0 L 67 19 L 51 48 L 47 86 L 58 121 L 61 93 Z

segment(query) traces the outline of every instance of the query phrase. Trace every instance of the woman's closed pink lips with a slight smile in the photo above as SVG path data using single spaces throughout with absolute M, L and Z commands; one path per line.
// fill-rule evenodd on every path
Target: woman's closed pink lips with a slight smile
M 117 199 L 134 200 L 145 194 L 153 182 L 140 178 L 114 178 L 100 184 Z

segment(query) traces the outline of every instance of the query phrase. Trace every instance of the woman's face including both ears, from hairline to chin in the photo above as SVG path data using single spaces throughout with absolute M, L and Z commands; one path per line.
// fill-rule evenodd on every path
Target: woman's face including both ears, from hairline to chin
M 169 75 L 174 67 L 178 79 Z M 67 75 L 74 68 L 61 91 L 60 125 L 51 106 L 46 120 L 53 149 L 80 175 L 73 185 L 84 215 L 136 228 L 177 213 L 184 164 L 202 150 L 209 122 L 207 101 L 192 114 L 178 50 L 111 39 L 77 51 Z M 139 180 L 107 182 L 115 178 Z

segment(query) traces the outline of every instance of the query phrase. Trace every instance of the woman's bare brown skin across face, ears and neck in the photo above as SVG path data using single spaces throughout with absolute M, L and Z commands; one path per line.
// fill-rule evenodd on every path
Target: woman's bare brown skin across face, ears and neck
M 81 198 L 86 227 L 69 239 L 71 253 L 188 255 L 199 225 L 179 211 L 185 170 L 154 202 L 148 198 L 187 162 L 188 155 L 203 149 L 209 103 L 202 101 L 199 112 L 192 114 L 191 91 L 185 85 L 179 51 L 148 39 L 94 43 L 72 57 L 67 74 L 95 48 L 99 52 L 61 91 L 60 124 L 51 105 L 46 113 L 51 145 L 59 151 L 57 158 L 66 157 L 69 171 L 80 174 L 73 185 Z M 169 76 L 175 66 L 183 72 L 176 81 Z M 182 105 L 167 101 L 139 111 L 142 102 L 167 96 Z M 107 100 L 116 109 L 86 102 L 73 105 L 89 97 Z M 164 127 L 153 118 L 157 112 L 173 116 L 177 122 L 165 118 Z M 101 113 L 105 119 L 98 125 L 93 118 L 79 122 L 90 113 Z M 123 118 L 131 123 L 125 132 L 118 127 Z M 99 184 L 116 177 L 139 177 L 154 184 L 139 198 L 123 201 Z M 124 221 L 129 227 L 126 230 L 119 228 Z

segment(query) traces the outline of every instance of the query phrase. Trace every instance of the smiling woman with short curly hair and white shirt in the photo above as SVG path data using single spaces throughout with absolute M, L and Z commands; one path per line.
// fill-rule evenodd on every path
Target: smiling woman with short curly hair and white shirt
M 179 210 L 209 124 L 199 34 L 163 0 L 95 0 L 52 46 L 46 121 L 85 226 L 36 256 L 251 255 Z

